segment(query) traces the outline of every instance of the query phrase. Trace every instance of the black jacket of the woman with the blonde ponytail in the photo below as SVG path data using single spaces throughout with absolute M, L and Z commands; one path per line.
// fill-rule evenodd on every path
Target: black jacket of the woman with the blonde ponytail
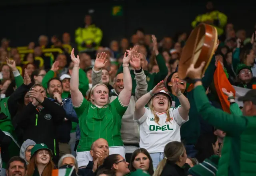
M 185 169 L 181 168 L 176 164 L 172 164 L 167 160 L 166 165 L 160 176 L 187 176 L 187 172 Z

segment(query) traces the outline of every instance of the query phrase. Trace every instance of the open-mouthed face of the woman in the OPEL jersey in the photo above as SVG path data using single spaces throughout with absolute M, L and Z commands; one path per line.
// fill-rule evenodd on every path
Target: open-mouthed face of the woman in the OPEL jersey
M 169 99 L 167 95 L 164 94 L 156 94 L 152 98 L 153 108 L 156 112 L 162 113 L 168 109 Z

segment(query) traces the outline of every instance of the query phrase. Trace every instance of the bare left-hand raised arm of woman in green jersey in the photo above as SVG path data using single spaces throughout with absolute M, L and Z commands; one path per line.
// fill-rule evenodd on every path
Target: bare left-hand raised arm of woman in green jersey
M 72 75 L 70 79 L 70 94 L 73 106 L 78 107 L 82 104 L 83 101 L 83 95 L 79 90 L 79 56 L 77 58 L 74 55 L 74 48 L 71 51 L 71 60 L 74 62 L 74 67 L 72 70 Z

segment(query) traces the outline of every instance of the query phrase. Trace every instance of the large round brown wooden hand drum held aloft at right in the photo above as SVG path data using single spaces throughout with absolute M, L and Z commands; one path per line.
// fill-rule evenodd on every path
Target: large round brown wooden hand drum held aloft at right
M 202 74 L 210 64 L 212 56 L 216 50 L 218 33 L 214 26 L 201 23 L 190 33 L 182 54 L 178 67 L 179 78 L 186 79 L 186 71 L 191 64 L 198 68 L 203 61 L 206 62 Z

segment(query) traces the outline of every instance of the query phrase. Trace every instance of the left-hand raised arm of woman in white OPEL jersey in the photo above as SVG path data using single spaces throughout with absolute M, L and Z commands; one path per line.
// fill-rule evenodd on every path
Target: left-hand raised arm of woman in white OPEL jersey
M 135 104 L 134 120 L 140 119 L 145 114 L 145 106 L 149 102 L 150 98 L 157 94 L 161 90 L 164 90 L 164 81 L 159 82 L 150 92 L 146 93 Z

